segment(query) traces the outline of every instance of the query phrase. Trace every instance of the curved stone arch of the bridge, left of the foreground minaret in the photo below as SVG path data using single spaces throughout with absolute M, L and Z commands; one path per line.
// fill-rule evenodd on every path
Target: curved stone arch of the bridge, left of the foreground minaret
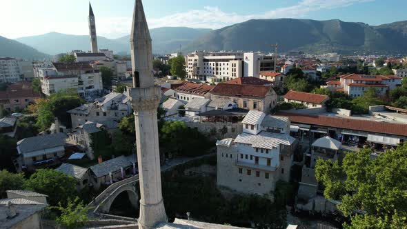
M 115 201 L 116 197 L 121 193 L 127 192 L 129 201 L 133 207 L 139 208 L 139 195 L 137 194 L 135 183 L 129 183 L 126 186 L 121 186 L 114 192 L 112 192 L 107 199 L 101 204 L 101 212 L 108 213 L 112 203 Z

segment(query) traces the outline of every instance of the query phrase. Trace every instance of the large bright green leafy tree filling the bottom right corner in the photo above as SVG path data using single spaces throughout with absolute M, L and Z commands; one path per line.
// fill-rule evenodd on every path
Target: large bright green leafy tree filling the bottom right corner
M 316 177 L 324 196 L 341 201 L 350 217 L 345 228 L 404 228 L 407 225 L 407 143 L 376 159 L 372 150 L 347 152 L 342 164 L 319 159 Z M 357 210 L 364 214 L 355 215 Z

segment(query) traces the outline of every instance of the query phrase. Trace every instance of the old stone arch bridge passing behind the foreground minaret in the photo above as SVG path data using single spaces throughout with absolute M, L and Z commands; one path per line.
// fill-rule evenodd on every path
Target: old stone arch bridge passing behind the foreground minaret
M 208 155 L 193 158 L 172 159 L 172 161 L 169 161 L 168 163 L 166 163 L 166 165 L 161 167 L 161 172 L 170 170 L 183 163 L 188 163 L 190 161 L 195 161 L 203 157 L 210 157 L 214 155 L 216 154 L 210 153 Z M 113 201 L 115 201 L 116 197 L 120 195 L 121 192 L 127 192 L 132 206 L 134 206 L 135 208 L 139 208 L 139 195 L 136 190 L 137 182 L 139 182 L 139 175 L 135 175 L 134 177 L 112 183 L 112 185 L 108 186 L 106 190 L 103 190 L 103 192 L 101 192 L 99 196 L 97 196 L 92 202 L 89 203 L 89 206 L 92 207 L 92 212 L 95 214 L 108 213 Z

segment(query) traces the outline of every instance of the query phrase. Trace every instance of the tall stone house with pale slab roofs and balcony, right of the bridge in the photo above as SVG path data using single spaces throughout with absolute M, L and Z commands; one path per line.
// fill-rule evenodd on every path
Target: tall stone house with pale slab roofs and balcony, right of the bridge
M 243 133 L 217 141 L 217 184 L 238 192 L 269 194 L 279 179 L 289 181 L 297 141 L 286 117 L 250 111 Z

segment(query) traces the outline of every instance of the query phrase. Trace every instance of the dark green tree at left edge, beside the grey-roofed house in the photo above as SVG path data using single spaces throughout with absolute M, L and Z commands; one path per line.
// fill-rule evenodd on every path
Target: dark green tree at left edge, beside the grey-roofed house
M 17 141 L 6 135 L 0 135 L 0 170 L 14 171 L 12 157 L 17 156 Z

